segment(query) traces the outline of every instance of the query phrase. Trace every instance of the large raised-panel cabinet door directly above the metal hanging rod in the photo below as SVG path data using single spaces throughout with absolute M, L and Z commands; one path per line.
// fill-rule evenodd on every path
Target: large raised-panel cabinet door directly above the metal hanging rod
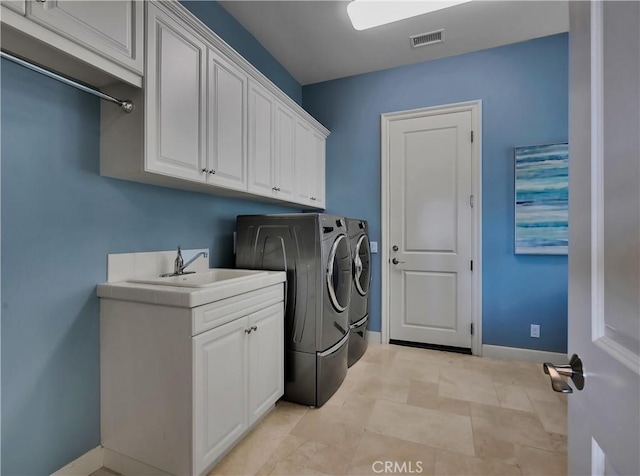
M 143 2 L 47 0 L 28 5 L 31 20 L 142 74 Z

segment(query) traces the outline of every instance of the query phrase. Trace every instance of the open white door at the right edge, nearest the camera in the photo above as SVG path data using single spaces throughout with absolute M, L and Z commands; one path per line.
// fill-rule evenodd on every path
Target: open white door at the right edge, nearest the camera
M 640 474 L 640 4 L 570 2 L 569 474 Z

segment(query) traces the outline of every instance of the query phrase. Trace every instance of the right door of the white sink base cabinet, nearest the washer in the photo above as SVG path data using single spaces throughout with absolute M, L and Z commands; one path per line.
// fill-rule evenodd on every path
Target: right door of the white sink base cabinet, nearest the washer
M 249 425 L 284 394 L 284 303 L 249 315 Z

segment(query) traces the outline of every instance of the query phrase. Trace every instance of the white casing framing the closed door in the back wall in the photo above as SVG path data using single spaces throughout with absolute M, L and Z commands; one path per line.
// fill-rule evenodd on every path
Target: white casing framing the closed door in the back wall
M 388 112 L 380 115 L 380 172 L 381 172 L 381 276 L 382 276 L 382 312 L 381 312 L 381 341 L 389 343 L 389 326 L 391 316 L 391 300 L 389 299 L 390 271 L 389 266 L 389 189 L 391 157 L 389 154 L 389 130 L 394 121 L 413 119 L 417 117 L 437 116 L 457 112 L 471 112 L 471 130 L 473 143 L 471 146 L 471 188 L 473 195 L 472 209 L 472 256 L 473 275 L 471 278 L 471 351 L 473 355 L 482 355 L 482 100 L 468 101 L 441 106 L 410 109 L 407 111 Z

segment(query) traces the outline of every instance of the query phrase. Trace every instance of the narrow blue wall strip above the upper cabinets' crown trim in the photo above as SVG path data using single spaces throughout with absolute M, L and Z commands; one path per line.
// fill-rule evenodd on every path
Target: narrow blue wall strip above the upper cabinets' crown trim
M 298 104 L 302 104 L 302 87 L 300 83 L 218 2 L 211 0 L 181 0 L 180 3 L 215 31 L 233 49 L 244 56 L 262 74 L 273 81 L 291 99 Z

